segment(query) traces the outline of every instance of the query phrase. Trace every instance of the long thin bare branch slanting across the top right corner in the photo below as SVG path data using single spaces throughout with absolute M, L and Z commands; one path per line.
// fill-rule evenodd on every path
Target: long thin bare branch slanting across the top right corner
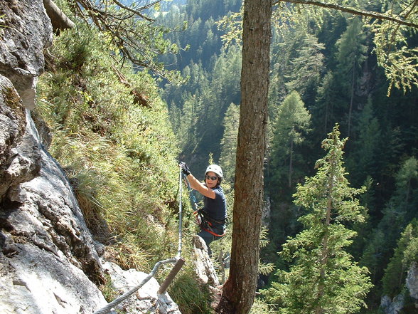
M 326 3 L 323 3 L 321 1 L 311 1 L 311 0 L 278 0 L 278 1 L 274 1 L 274 4 L 279 4 L 279 2 L 289 2 L 291 4 L 310 4 L 310 5 L 313 5 L 313 6 L 321 6 L 321 7 L 326 8 L 326 9 L 334 9 L 334 10 L 337 10 L 337 11 L 342 11 L 342 12 L 346 12 L 346 13 L 350 13 L 350 14 L 354 14 L 354 15 L 358 15 L 358 16 L 368 16 L 368 17 L 371 17 L 371 18 L 379 19 L 379 20 L 393 21 L 395 23 L 402 24 L 402 25 L 405 25 L 405 26 L 409 26 L 409 27 L 412 27 L 412 28 L 418 28 L 418 24 L 416 24 L 416 23 L 404 21 L 402 19 L 397 19 L 395 17 L 387 16 L 385 14 L 380 14 L 380 13 L 377 13 L 377 12 L 351 9 L 351 8 L 347 8 L 345 6 L 339 6 L 338 4 L 326 4 Z

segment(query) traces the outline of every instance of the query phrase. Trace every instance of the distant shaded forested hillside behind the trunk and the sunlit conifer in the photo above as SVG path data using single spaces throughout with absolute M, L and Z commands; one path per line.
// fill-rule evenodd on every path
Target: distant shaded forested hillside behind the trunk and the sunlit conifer
M 168 34 L 186 50 L 161 58 L 188 78 L 180 86 L 161 82 L 181 159 L 201 173 L 213 154 L 233 184 L 241 66 L 240 38 L 233 31 L 240 21 L 219 21 L 238 12 L 240 1 L 170 4 L 158 21 L 171 28 L 187 23 L 184 31 Z M 387 7 L 368 1 L 362 9 L 385 12 Z M 382 295 L 393 298 L 404 291 L 407 270 L 418 261 L 417 76 L 407 88 L 392 84 L 378 64 L 375 33 L 366 26 L 370 20 L 338 11 L 301 9 L 297 18 L 286 14 L 290 11 L 282 9 L 273 19 L 264 173 L 270 244 L 262 250 L 263 261 L 282 271 L 291 266 L 277 253 L 289 236 L 304 229 L 298 218 L 306 210 L 294 203 L 294 193 L 316 174 L 321 142 L 338 124 L 341 137 L 347 138 L 343 162 L 348 182 L 367 188 L 359 196 L 365 221 L 345 223 L 357 232 L 348 251 L 368 268 L 374 285 L 366 298 L 368 309 L 362 311 L 377 313 Z M 416 32 L 404 36 L 409 47 L 417 48 Z M 410 252 L 415 254 L 407 257 Z M 277 276 L 264 278 L 267 287 Z M 405 303 L 404 313 L 414 313 L 412 300 Z

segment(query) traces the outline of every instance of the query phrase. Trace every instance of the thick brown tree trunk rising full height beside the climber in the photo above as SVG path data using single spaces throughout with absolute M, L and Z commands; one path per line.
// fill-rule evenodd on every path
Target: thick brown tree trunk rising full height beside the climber
M 218 313 L 249 313 L 257 288 L 271 15 L 272 0 L 245 0 L 231 267 Z

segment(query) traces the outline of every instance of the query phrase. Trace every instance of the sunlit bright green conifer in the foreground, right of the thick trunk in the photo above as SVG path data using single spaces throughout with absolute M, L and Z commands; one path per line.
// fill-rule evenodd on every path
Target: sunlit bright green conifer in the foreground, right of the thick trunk
M 359 267 L 347 248 L 355 232 L 347 222 L 363 222 L 358 194 L 349 186 L 343 167 L 343 146 L 338 125 L 323 141 L 328 151 L 316 163 L 314 177 L 297 187 L 295 204 L 308 212 L 300 218 L 305 229 L 284 244 L 280 253 L 295 260 L 289 271 L 279 271 L 279 282 L 266 291 L 286 314 L 348 314 L 365 305 L 371 288 L 368 269 Z

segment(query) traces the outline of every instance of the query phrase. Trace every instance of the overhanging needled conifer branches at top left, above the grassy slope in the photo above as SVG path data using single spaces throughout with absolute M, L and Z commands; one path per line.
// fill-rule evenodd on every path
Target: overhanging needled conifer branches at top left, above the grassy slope
M 161 26 L 152 18 L 160 9 L 159 1 L 142 4 L 136 1 L 124 5 L 116 0 L 61 0 L 61 6 L 70 6 L 67 14 L 78 23 L 105 33 L 112 49 L 107 53 L 121 56 L 136 70 L 151 70 L 154 74 L 181 83 L 178 71 L 167 70 L 157 57 L 178 53 L 179 46 L 171 43 L 166 34 L 171 29 Z

